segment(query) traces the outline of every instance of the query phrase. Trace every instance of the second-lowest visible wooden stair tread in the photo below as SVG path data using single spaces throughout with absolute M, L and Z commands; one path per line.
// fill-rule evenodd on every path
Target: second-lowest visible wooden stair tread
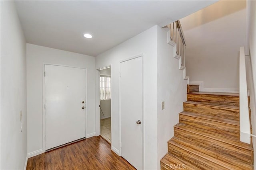
M 186 150 L 190 153 L 193 153 L 199 157 L 202 157 L 210 162 L 213 162 L 215 164 L 218 164 L 220 166 L 223 166 L 225 168 L 229 168 L 229 169 L 238 169 L 238 168 L 252 168 L 252 164 L 246 163 L 246 162 L 242 162 L 236 158 L 230 158 L 230 160 L 232 160 L 230 163 L 225 162 L 223 160 L 220 160 L 218 158 L 214 158 L 208 154 L 205 154 L 203 152 L 200 152 L 199 150 L 202 150 L 202 147 L 198 147 L 196 145 L 191 145 L 188 142 L 182 141 L 179 138 L 173 137 L 172 139 L 170 139 L 170 141 L 168 141 L 169 144 L 175 145 L 176 147 L 179 147 L 183 150 Z M 197 150 L 198 149 L 198 150 Z M 233 162 L 233 163 L 232 163 Z

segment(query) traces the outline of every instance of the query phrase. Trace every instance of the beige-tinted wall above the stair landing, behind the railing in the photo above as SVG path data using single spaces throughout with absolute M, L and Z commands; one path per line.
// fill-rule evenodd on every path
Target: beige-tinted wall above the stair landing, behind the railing
M 246 1 L 219 1 L 180 20 L 186 74 L 204 88 L 239 88 L 239 49 L 246 41 Z

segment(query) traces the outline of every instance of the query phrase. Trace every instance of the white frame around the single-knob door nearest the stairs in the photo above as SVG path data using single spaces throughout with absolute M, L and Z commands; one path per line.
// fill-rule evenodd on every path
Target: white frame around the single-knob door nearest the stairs
M 144 131 L 145 131 L 145 119 L 144 119 L 144 53 L 133 56 L 133 57 L 129 57 L 123 60 L 119 61 L 119 152 L 120 152 L 120 156 L 122 156 L 122 141 L 121 141 L 121 78 L 120 78 L 120 72 L 121 72 L 121 63 L 125 62 L 125 61 L 129 61 L 132 59 L 136 59 L 138 57 L 142 57 L 142 169 L 144 169 L 144 163 L 145 163 L 145 148 L 144 148 Z

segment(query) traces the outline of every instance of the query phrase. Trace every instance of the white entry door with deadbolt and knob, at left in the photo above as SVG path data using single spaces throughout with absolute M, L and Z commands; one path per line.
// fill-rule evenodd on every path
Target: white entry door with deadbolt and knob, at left
M 46 150 L 85 137 L 85 99 L 86 69 L 45 65 Z

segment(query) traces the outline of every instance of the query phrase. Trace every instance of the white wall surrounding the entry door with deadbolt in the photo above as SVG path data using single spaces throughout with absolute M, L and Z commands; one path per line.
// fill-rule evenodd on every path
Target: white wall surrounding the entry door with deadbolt
M 95 58 L 78 53 L 27 44 L 28 154 L 43 149 L 42 63 L 87 68 L 86 136 L 95 135 Z

